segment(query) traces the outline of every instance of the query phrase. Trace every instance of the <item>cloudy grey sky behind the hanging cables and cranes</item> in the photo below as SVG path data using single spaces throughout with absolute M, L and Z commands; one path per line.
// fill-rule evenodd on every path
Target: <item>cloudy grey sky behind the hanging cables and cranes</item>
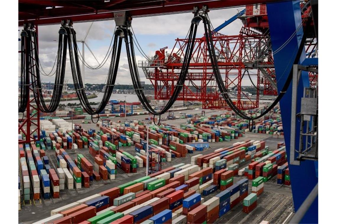
M 243 7 L 230 8 L 230 9 L 218 9 L 211 10 L 209 17 L 213 27 L 217 27 L 224 23 L 225 20 L 234 16 L 238 10 L 242 10 Z M 155 51 L 163 47 L 168 47 L 167 52 L 171 52 L 176 38 L 185 38 L 187 31 L 190 27 L 190 21 L 193 17 L 192 13 L 180 13 L 173 15 L 160 15 L 133 18 L 132 28 L 134 35 L 138 40 L 141 48 L 148 56 L 154 56 Z M 76 31 L 76 38 L 82 40 L 90 27 L 89 23 L 74 23 L 73 28 Z M 202 25 L 202 23 L 201 23 Z M 225 35 L 238 35 L 242 28 L 241 20 L 237 19 L 232 24 L 228 25 L 220 31 Z M 60 25 L 49 25 L 38 27 L 39 37 L 39 58 L 43 70 L 49 73 L 55 61 L 57 47 L 58 47 L 58 31 Z M 108 51 L 112 35 L 115 29 L 115 21 L 96 21 L 93 23 L 91 30 L 86 38 L 86 43 L 89 45 L 93 53 L 99 62 L 101 62 Z M 22 30 L 19 27 L 18 34 Z M 197 37 L 202 37 L 204 33 L 203 26 L 199 26 L 197 31 Z M 82 53 L 82 44 L 79 44 L 79 48 Z M 20 42 L 19 42 L 20 49 Z M 135 48 L 136 49 L 136 48 Z M 67 53 L 68 54 L 68 53 Z M 136 60 L 145 60 L 146 58 L 136 49 Z M 97 66 L 98 63 L 90 53 L 87 47 L 85 47 L 85 61 L 91 66 Z M 81 63 L 81 61 L 80 61 Z M 91 70 L 85 67 L 85 83 L 104 83 L 108 74 L 110 65 L 110 59 L 99 70 Z M 20 75 L 20 55 L 19 55 L 19 75 Z M 127 57 L 125 52 L 125 45 L 122 45 L 122 52 L 120 56 L 119 70 L 117 74 L 116 84 L 132 84 L 129 74 L 127 63 Z M 150 81 L 145 78 L 145 75 L 141 68 L 138 69 L 141 76 L 141 80 L 146 84 L 150 84 Z M 68 83 L 72 82 L 69 56 L 67 55 L 67 65 L 65 72 L 65 80 L 68 79 Z M 55 76 L 42 76 L 41 82 L 54 83 Z M 250 81 L 245 77 L 243 85 L 250 85 Z

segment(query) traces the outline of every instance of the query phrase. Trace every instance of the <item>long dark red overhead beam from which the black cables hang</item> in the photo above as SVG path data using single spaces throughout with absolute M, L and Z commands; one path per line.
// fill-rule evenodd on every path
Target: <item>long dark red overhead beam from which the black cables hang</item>
M 208 1 L 179 1 L 175 5 L 163 5 L 148 7 L 142 9 L 127 9 L 130 15 L 133 17 L 144 17 L 153 15 L 163 15 L 163 14 L 173 14 L 182 12 L 192 12 L 193 7 L 197 6 L 202 8 L 202 6 L 207 5 L 210 10 L 220 9 L 226 7 L 251 5 L 251 4 L 262 4 L 267 2 L 272 2 L 274 0 L 208 0 Z M 132 6 L 130 6 L 132 7 Z M 124 11 L 119 9 L 118 11 Z M 102 13 L 86 13 L 83 15 L 73 15 L 76 14 L 76 10 L 73 11 L 72 15 L 60 15 L 53 16 L 50 18 L 40 18 L 40 19 L 28 19 L 19 20 L 19 26 L 23 26 L 24 23 L 34 22 L 36 25 L 52 25 L 60 24 L 61 19 L 71 18 L 73 22 L 87 22 L 87 21 L 98 21 L 98 20 L 111 20 L 114 19 L 114 11 L 107 11 Z

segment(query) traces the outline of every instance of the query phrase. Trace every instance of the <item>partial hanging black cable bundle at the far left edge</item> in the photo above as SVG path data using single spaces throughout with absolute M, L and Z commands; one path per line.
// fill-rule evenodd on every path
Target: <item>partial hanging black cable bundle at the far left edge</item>
M 29 97 L 29 52 L 30 52 L 30 37 L 28 36 L 27 28 L 21 32 L 21 76 L 20 76 L 20 100 L 19 113 L 24 113 Z

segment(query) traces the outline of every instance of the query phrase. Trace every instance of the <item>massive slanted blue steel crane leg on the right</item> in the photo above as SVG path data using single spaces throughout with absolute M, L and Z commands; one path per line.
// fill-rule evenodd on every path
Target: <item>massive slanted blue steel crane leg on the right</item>
M 272 42 L 272 49 L 275 51 L 287 41 L 287 39 L 301 26 L 301 9 L 300 2 L 285 1 L 279 3 L 267 4 L 267 14 L 269 30 Z M 277 54 L 274 54 L 274 65 L 276 71 L 277 89 L 282 89 L 287 76 L 292 69 L 294 59 L 296 57 L 303 29 L 297 31 L 297 35 L 290 40 Z M 303 49 L 300 62 L 305 60 L 305 51 Z M 290 133 L 291 113 L 292 109 L 292 84 L 280 100 L 281 117 L 284 131 L 284 141 L 286 146 L 287 158 L 290 158 L 290 135 L 296 135 L 296 142 L 299 142 L 300 127 L 297 125 L 296 133 Z M 303 88 L 309 87 L 309 77 L 307 72 L 302 72 L 298 85 L 297 113 L 300 111 L 301 97 L 303 96 Z M 289 161 L 288 161 L 289 163 Z M 313 161 L 301 161 L 300 166 L 290 165 L 289 172 L 291 177 L 291 187 L 293 192 L 293 200 L 295 211 L 299 209 L 303 201 L 309 195 L 310 191 L 318 182 L 316 176 L 315 165 Z M 301 223 L 318 223 L 318 196 L 310 206 Z

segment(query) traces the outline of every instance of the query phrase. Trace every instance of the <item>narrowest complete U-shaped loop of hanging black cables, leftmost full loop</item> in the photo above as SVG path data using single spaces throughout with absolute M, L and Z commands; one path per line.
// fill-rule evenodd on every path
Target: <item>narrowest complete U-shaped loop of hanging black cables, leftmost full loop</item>
M 35 30 L 31 30 L 29 35 L 32 36 L 31 41 L 31 52 L 30 52 L 30 64 L 31 64 L 31 79 L 32 79 L 32 88 L 33 94 L 35 98 L 35 102 L 39 108 L 44 113 L 52 113 L 54 112 L 61 99 L 63 83 L 64 83 L 64 74 L 65 74 L 65 65 L 66 65 L 66 56 L 67 56 L 67 39 L 65 29 L 61 28 L 59 31 L 59 44 L 57 51 L 57 63 L 56 63 L 56 75 L 55 75 L 55 83 L 53 89 L 52 99 L 50 104 L 47 106 L 45 104 L 43 93 L 42 93 L 42 85 L 40 78 L 40 70 L 39 70 L 39 55 L 37 49 L 37 34 Z

